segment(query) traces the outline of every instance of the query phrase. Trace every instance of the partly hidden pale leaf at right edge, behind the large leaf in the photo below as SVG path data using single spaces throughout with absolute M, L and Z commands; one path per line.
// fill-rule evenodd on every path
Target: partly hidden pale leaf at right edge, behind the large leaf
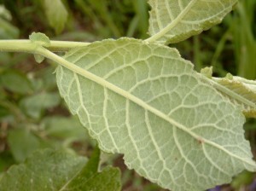
M 212 78 L 218 83 L 217 89 L 230 101 L 241 107 L 250 118 L 256 118 L 256 81 L 227 75 L 226 78 Z M 220 87 L 219 87 L 220 86 Z

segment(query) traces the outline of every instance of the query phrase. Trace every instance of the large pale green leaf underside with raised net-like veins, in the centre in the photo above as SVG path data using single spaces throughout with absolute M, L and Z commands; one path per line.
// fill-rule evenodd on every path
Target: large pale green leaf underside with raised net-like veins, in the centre
M 57 84 L 108 153 L 173 191 L 205 190 L 255 171 L 241 112 L 201 81 L 176 49 L 131 38 L 65 55 Z M 73 63 L 73 64 L 72 64 Z

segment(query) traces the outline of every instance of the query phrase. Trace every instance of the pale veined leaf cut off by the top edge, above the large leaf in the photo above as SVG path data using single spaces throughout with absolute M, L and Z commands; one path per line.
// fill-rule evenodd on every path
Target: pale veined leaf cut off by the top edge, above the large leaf
M 177 43 L 223 20 L 237 0 L 149 0 L 148 41 Z

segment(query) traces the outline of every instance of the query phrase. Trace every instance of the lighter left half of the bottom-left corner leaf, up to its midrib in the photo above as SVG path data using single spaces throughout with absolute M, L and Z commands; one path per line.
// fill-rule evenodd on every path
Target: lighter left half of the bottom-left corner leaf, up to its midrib
M 76 177 L 86 161 L 67 151 L 47 149 L 33 153 L 24 164 L 14 165 L 3 174 L 0 190 L 64 191 L 61 188 Z

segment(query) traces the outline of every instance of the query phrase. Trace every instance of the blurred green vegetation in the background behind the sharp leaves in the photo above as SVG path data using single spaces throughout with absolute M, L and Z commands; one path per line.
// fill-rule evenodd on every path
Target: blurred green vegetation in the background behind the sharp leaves
M 0 0 L 0 39 L 28 38 L 44 32 L 56 40 L 92 42 L 104 38 L 147 38 L 146 0 Z M 58 11 L 56 11 L 58 10 Z M 256 78 L 256 1 L 241 0 L 224 21 L 201 35 L 172 44 L 195 69 L 213 66 L 214 75 L 227 72 Z M 32 55 L 0 54 L 0 171 L 18 164 L 40 148 L 65 148 L 90 154 L 94 142 L 71 116 L 58 94 L 55 64 L 38 65 Z M 245 125 L 253 153 L 256 123 Z M 123 190 L 163 190 L 127 171 L 120 156 L 102 160 L 120 167 Z M 104 159 L 106 158 L 106 159 Z M 231 185 L 212 190 L 256 190 L 255 174 L 243 172 Z

